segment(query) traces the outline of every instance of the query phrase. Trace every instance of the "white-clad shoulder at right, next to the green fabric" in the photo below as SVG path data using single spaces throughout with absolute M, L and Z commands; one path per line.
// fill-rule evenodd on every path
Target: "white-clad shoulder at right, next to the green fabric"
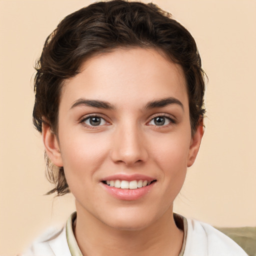
M 244 250 L 231 238 L 209 224 L 187 219 L 184 256 L 246 256 Z

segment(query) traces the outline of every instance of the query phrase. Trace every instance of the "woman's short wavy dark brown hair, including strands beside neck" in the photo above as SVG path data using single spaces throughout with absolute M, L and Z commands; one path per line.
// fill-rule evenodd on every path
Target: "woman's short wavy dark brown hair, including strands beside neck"
M 160 49 L 180 64 L 186 79 L 191 132 L 205 113 L 201 59 L 191 34 L 153 3 L 112 0 L 96 2 L 66 16 L 46 38 L 34 78 L 33 123 L 42 131 L 47 122 L 57 134 L 58 105 L 62 82 L 79 72 L 83 61 L 118 47 Z M 46 157 L 46 176 L 55 184 L 48 192 L 69 192 L 63 167 Z

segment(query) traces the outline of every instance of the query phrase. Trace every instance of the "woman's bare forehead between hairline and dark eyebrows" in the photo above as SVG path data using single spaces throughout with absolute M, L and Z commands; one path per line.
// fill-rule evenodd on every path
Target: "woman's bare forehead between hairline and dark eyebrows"
M 125 104 L 139 99 L 177 97 L 187 101 L 182 68 L 152 48 L 115 49 L 84 61 L 80 72 L 63 83 L 60 103 L 81 96 Z

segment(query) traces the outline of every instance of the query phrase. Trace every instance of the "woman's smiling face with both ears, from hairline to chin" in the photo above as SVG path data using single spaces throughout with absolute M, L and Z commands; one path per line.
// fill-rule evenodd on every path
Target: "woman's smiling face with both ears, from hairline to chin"
M 77 214 L 140 229 L 172 212 L 202 135 L 191 137 L 178 64 L 155 49 L 92 57 L 64 82 L 58 118 L 58 140 L 47 127 L 43 139 Z

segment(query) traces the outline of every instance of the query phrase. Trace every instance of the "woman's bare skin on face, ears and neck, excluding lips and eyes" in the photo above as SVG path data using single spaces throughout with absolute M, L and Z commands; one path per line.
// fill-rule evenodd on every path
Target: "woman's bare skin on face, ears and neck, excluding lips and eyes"
M 166 98 L 176 101 L 149 107 Z M 111 108 L 79 103 L 84 99 Z M 91 114 L 102 118 L 100 125 L 90 124 Z M 156 117 L 164 124 L 156 125 Z M 99 54 L 64 81 L 58 137 L 44 124 L 43 141 L 75 197 L 75 237 L 83 255 L 178 255 L 183 232 L 174 223 L 173 200 L 202 135 L 200 125 L 191 135 L 181 67 L 156 49 Z M 101 182 L 115 174 L 156 181 L 142 197 L 121 200 Z

